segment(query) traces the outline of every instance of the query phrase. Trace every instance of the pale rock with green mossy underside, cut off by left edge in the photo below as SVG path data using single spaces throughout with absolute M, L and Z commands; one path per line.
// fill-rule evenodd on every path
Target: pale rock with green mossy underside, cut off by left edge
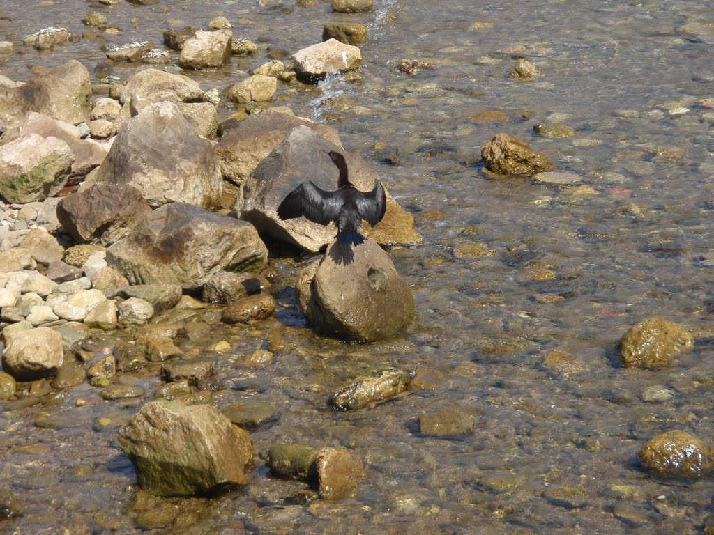
M 74 154 L 58 138 L 29 134 L 0 146 L 0 195 L 31 203 L 54 195 L 69 179 Z

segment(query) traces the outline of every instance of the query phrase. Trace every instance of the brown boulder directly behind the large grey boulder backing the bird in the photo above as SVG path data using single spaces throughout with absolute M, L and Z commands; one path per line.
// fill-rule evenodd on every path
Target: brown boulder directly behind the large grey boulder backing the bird
M 278 143 L 296 126 L 308 126 L 321 138 L 341 147 L 340 134 L 331 126 L 321 125 L 310 119 L 264 111 L 248 116 L 238 128 L 226 131 L 215 147 L 223 178 L 241 186 L 258 163 L 268 156 Z

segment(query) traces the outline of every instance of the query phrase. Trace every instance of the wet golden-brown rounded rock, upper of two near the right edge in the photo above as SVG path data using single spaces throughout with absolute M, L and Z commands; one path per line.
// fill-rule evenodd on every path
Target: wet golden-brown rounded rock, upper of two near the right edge
M 672 364 L 678 353 L 694 345 L 692 333 L 663 317 L 649 317 L 625 332 L 620 340 L 623 367 L 653 368 Z

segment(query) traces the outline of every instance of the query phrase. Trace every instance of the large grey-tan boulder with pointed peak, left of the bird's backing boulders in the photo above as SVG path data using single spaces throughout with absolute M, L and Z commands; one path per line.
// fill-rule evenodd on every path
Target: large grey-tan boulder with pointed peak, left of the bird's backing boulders
M 213 208 L 222 179 L 213 146 L 175 103 L 146 106 L 116 136 L 96 182 L 132 185 L 151 207 L 181 202 Z

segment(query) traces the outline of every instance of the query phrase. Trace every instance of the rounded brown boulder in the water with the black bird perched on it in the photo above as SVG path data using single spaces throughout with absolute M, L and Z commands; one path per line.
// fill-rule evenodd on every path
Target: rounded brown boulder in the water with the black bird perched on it
M 335 241 L 301 272 L 296 290 L 313 329 L 341 340 L 392 337 L 414 316 L 411 288 L 373 240 L 356 247 Z

